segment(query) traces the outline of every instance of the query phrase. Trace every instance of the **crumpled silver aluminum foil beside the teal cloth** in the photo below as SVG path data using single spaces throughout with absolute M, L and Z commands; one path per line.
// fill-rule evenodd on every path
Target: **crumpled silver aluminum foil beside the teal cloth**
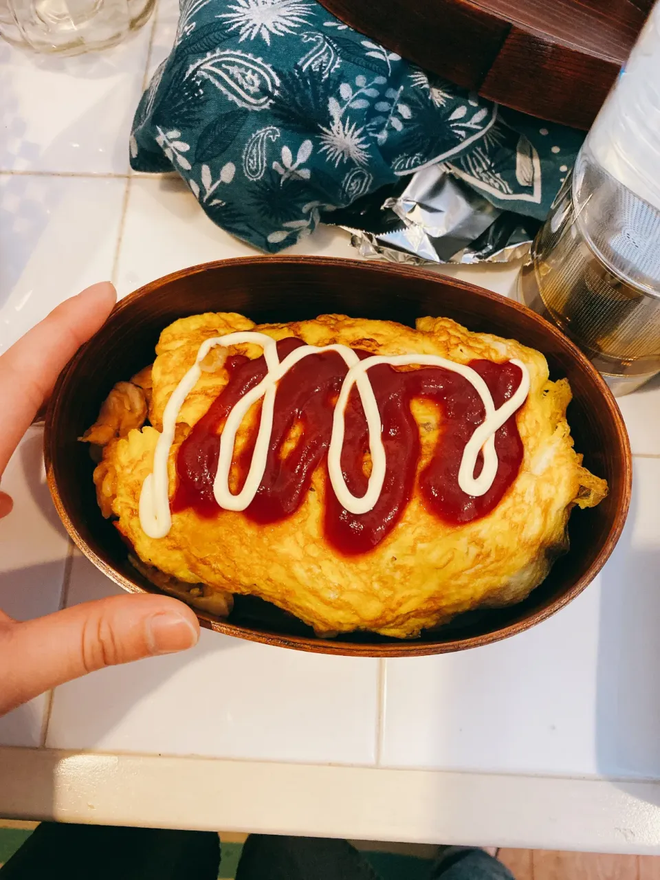
M 447 165 L 416 172 L 399 193 L 378 190 L 323 219 L 349 231 L 361 256 L 415 266 L 517 260 L 540 226 L 495 208 Z

